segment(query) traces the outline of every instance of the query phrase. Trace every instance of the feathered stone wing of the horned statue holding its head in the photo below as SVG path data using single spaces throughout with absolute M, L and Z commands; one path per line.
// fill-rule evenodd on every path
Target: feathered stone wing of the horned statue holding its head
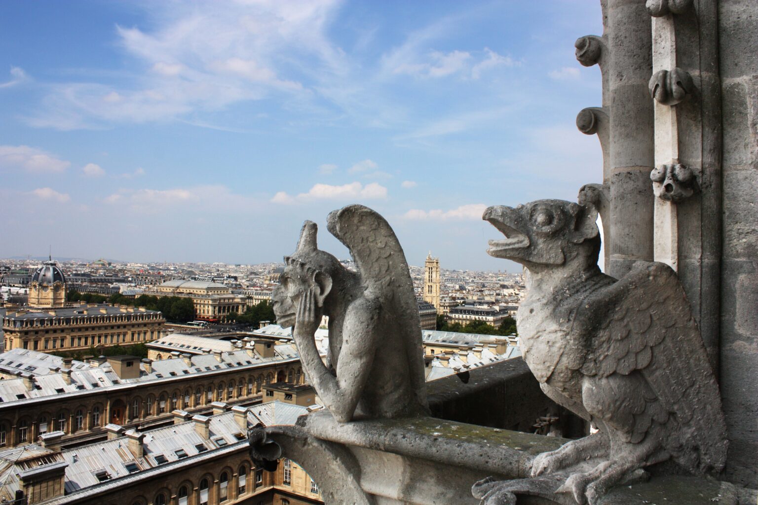
M 387 317 L 397 322 L 406 346 L 410 376 L 418 383 L 414 391 L 425 391 L 421 322 L 406 255 L 395 232 L 374 210 L 352 204 L 330 212 L 327 229 L 349 249 L 356 262 L 368 298 L 377 298 Z M 419 398 L 426 404 L 426 397 Z

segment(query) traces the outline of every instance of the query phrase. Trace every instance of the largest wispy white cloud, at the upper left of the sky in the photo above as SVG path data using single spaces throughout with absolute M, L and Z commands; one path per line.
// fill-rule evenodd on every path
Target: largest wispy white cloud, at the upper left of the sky
M 346 55 L 327 37 L 340 3 L 155 2 L 146 9 L 149 29 L 117 26 L 118 42 L 134 60 L 128 67 L 142 73 L 115 85 L 52 85 L 42 110 L 28 121 L 57 129 L 100 128 L 181 120 L 275 93 L 307 98 L 315 91 L 303 89 L 300 79 L 343 74 Z

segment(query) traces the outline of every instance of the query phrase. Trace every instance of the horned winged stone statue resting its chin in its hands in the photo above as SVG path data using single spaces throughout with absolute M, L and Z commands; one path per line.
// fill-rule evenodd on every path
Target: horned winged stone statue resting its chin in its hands
M 334 210 L 327 228 L 349 249 L 358 273 L 319 250 L 318 227 L 305 221 L 271 296 L 277 323 L 294 326 L 305 373 L 337 421 L 428 413 L 418 304 L 395 233 L 362 205 Z M 314 341 L 324 315 L 326 364 Z

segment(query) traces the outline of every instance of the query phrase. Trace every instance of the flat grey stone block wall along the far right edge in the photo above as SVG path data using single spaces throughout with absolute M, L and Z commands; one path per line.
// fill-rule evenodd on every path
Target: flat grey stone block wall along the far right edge
M 758 5 L 718 3 L 722 105 L 721 363 L 731 482 L 758 487 Z

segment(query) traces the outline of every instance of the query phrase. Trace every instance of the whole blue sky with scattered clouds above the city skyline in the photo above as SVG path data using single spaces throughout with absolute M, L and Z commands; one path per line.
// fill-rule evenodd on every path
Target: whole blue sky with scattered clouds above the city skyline
M 260 263 L 362 203 L 409 263 L 520 271 L 487 205 L 600 182 L 594 0 L 0 2 L 0 257 Z

